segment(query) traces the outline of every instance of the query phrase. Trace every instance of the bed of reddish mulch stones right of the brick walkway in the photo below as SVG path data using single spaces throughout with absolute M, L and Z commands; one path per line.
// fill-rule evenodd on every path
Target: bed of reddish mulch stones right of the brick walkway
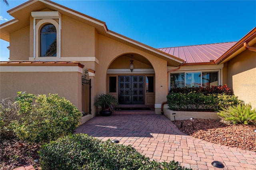
M 222 120 L 195 119 L 194 130 L 190 120 L 172 121 L 180 131 L 224 146 L 256 151 L 256 125 L 228 124 Z M 182 128 L 181 126 L 182 123 Z

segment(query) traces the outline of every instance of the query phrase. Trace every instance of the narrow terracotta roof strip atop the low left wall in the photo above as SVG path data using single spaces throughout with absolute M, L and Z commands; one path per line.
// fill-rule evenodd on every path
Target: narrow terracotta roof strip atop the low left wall
M 84 68 L 80 62 L 70 61 L 0 61 L 0 66 L 79 66 Z

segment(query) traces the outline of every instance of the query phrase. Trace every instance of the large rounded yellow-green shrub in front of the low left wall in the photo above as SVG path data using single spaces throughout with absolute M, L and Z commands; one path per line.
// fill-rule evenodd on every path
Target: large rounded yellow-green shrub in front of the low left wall
M 49 142 L 72 134 L 82 114 L 58 94 L 34 95 L 18 92 L 19 120 L 12 121 L 14 133 L 27 142 Z

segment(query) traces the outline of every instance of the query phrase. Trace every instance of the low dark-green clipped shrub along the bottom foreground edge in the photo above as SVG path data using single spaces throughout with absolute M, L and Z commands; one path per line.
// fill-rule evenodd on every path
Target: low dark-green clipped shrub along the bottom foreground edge
M 105 142 L 87 134 L 64 136 L 40 151 L 42 170 L 183 170 L 178 162 L 150 161 L 132 146 Z

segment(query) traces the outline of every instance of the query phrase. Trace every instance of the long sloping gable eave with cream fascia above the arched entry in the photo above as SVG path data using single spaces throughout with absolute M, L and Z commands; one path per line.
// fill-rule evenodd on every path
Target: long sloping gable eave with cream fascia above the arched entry
M 118 42 L 121 42 L 128 46 L 132 46 L 148 54 L 152 54 L 158 58 L 166 60 L 168 66 L 179 66 L 184 62 L 184 60 L 180 58 L 164 53 L 160 50 L 156 50 L 155 48 L 152 48 L 138 41 L 132 40 L 128 37 L 122 36 L 121 34 L 117 34 L 116 32 L 108 30 L 105 22 L 102 22 L 85 14 L 67 8 L 50 0 L 29 0 L 15 8 L 12 8 L 11 10 L 8 10 L 7 12 L 15 19 L 0 25 L 0 38 L 6 41 L 10 41 L 9 34 L 11 32 L 14 32 L 16 30 L 24 28 L 25 26 L 30 25 L 31 11 L 41 11 L 46 8 L 53 11 L 59 11 L 63 15 L 66 15 L 70 18 L 88 24 L 96 28 L 99 34 L 102 34 Z

